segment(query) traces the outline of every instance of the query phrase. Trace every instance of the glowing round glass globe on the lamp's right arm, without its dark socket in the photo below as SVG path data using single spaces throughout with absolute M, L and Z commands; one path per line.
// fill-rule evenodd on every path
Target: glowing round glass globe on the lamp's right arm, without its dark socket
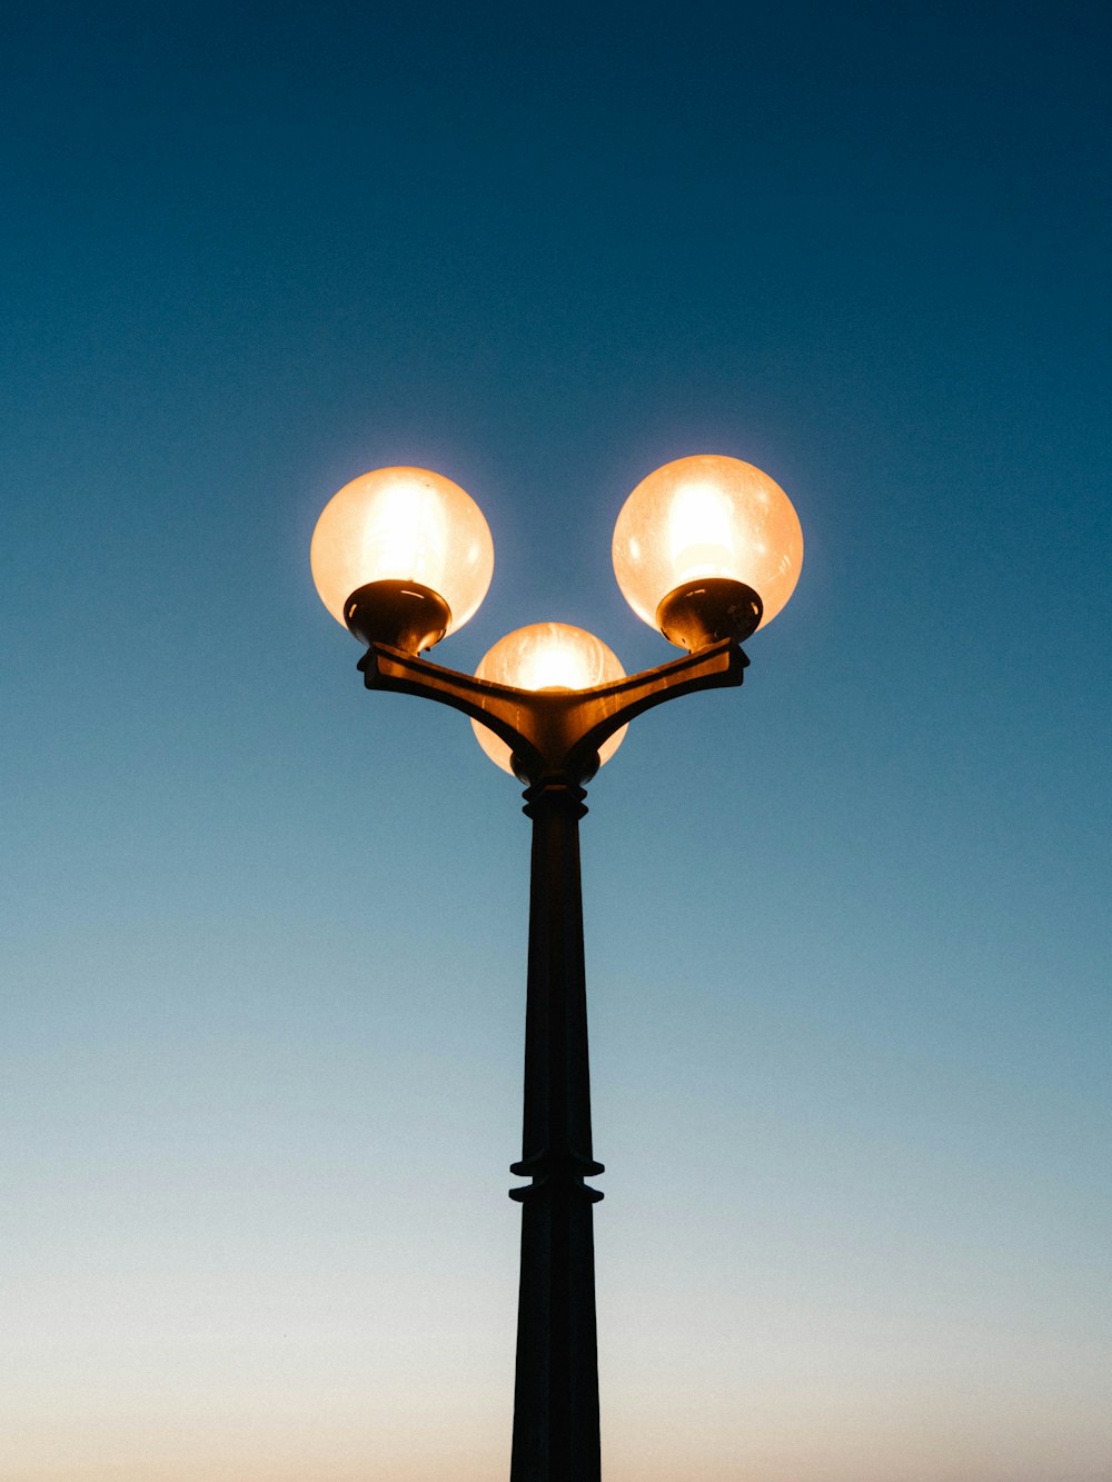
M 654 628 L 663 625 L 666 597 L 722 578 L 759 596 L 764 627 L 792 596 L 802 562 L 792 501 L 740 458 L 701 453 L 664 464 L 642 479 L 614 526 L 614 575 Z

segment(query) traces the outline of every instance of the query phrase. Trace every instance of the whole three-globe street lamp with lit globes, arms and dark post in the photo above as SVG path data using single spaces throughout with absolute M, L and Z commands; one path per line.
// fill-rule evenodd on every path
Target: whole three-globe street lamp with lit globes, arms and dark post
M 740 643 L 790 597 L 802 563 L 795 510 L 735 458 L 681 458 L 649 474 L 618 514 L 614 571 L 635 612 L 685 657 L 626 676 L 599 639 L 534 624 L 461 674 L 421 658 L 486 594 L 494 545 L 474 501 L 421 468 L 380 468 L 326 505 L 313 576 L 332 615 L 366 645 L 368 689 L 451 705 L 488 756 L 525 782 L 532 820 L 525 1011 L 517 1368 L 510 1482 L 599 1482 L 599 1381 L 592 1208 L 602 1194 L 590 1128 L 580 889 L 586 784 L 642 711 L 740 685 Z

